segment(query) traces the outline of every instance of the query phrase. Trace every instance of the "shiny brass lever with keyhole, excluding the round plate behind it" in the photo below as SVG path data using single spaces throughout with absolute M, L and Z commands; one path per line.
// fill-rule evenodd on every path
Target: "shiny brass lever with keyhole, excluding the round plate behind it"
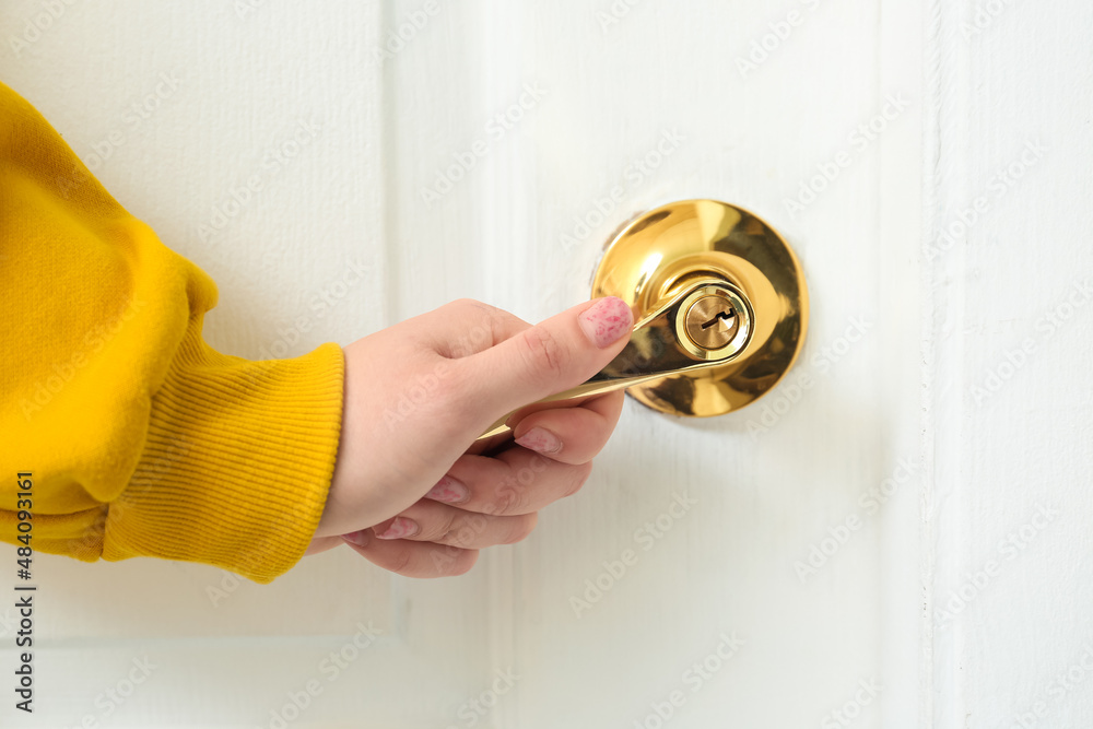
M 731 362 L 747 349 L 754 318 L 748 298 L 724 279 L 689 282 L 634 325 L 630 342 L 603 369 L 577 387 L 533 404 L 601 395 Z M 500 419 L 478 439 L 508 431 L 508 420 L 516 412 Z

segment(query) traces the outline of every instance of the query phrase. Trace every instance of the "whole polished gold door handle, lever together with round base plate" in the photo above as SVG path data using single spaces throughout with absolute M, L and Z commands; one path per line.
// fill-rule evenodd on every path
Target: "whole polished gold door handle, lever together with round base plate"
M 809 297 L 789 245 L 752 213 L 682 200 L 627 223 L 607 247 L 592 297 L 618 296 L 637 324 L 625 349 L 591 379 L 508 413 L 628 388 L 673 415 L 720 415 L 768 392 L 804 343 Z

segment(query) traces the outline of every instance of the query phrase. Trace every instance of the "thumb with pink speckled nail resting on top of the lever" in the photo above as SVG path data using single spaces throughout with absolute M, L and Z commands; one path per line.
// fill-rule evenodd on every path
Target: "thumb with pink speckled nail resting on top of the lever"
M 584 383 L 630 340 L 634 314 L 607 296 L 525 329 L 487 350 L 460 360 L 474 369 L 485 420 Z

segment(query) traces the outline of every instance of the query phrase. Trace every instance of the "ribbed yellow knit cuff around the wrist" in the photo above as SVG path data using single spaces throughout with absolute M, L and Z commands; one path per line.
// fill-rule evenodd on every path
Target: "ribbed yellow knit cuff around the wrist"
M 110 503 L 103 558 L 202 562 L 256 583 L 287 572 L 322 516 L 343 377 L 337 344 L 251 362 L 209 348 L 191 321 L 137 470 Z

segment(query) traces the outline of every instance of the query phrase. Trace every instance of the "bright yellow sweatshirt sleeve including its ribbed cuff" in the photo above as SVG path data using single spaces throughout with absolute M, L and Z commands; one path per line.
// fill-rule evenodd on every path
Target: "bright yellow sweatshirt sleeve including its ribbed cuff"
M 201 337 L 212 280 L 119 205 L 0 84 L 0 539 L 32 473 L 32 546 L 269 583 L 333 472 L 343 353 L 251 362 Z

